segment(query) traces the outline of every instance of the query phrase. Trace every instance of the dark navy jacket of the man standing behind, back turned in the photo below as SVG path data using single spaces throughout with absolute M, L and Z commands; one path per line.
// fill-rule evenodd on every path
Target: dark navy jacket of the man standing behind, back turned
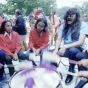
M 13 30 L 16 31 L 19 35 L 27 34 L 25 22 L 21 15 L 17 18 L 16 24 L 15 24 L 15 26 L 13 26 Z

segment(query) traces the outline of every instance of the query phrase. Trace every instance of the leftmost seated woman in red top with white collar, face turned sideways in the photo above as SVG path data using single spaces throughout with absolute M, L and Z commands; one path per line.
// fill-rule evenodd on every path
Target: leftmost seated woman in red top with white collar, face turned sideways
M 5 62 L 7 65 L 12 65 L 12 60 L 25 59 L 25 55 L 21 51 L 21 43 L 18 33 L 12 31 L 12 24 L 5 20 L 1 24 L 0 29 L 0 49 L 2 49 L 6 56 Z M 10 76 L 14 73 L 14 67 L 8 67 Z

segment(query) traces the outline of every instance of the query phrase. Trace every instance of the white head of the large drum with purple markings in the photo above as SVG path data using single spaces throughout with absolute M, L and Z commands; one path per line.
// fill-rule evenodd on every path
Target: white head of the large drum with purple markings
M 33 78 L 35 86 L 33 88 L 63 88 L 61 85 L 61 75 L 55 71 L 45 68 L 34 68 L 30 72 L 21 75 L 23 71 L 16 72 L 10 79 L 10 88 L 25 88 L 28 78 Z

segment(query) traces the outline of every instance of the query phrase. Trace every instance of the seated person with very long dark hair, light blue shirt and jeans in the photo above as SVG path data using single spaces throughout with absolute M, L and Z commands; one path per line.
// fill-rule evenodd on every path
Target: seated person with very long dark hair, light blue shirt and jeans
M 61 57 L 76 60 L 76 54 L 85 48 L 86 34 L 88 34 L 88 25 L 80 21 L 78 9 L 70 8 L 64 16 L 64 24 L 60 26 L 55 50 L 50 51 Z M 60 46 L 62 40 L 63 46 Z M 74 64 L 69 63 L 68 71 L 74 72 L 74 66 Z M 65 83 L 69 84 L 72 79 L 72 75 L 67 75 Z

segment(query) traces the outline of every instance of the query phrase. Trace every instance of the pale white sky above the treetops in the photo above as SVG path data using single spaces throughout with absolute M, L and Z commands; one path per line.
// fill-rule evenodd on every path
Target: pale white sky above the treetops
M 73 6 L 74 3 L 79 3 L 88 0 L 57 0 L 57 7 L 61 8 L 63 6 Z M 0 0 L 0 3 L 6 3 L 6 0 Z

